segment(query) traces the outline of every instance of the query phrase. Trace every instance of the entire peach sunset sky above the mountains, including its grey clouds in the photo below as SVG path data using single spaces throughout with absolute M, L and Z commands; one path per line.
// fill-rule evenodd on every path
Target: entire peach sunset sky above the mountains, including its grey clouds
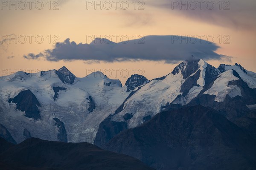
M 203 40 L 208 37 L 207 40 L 213 43 L 197 48 L 205 54 L 204 59 L 209 64 L 218 67 L 221 63 L 234 65 L 237 62 L 256 72 L 254 0 L 204 1 L 202 4 L 171 0 L 23 2 L 25 4 L 20 1 L 9 4 L 9 1 L 1 0 L 0 76 L 12 74 L 15 69 L 34 69 L 32 72 L 35 72 L 65 65 L 77 77 L 99 70 L 112 79 L 120 79 L 122 84 L 134 73 L 143 74 L 148 79 L 162 77 L 190 57 L 189 50 L 194 47 L 185 40 L 174 46 L 164 39 L 168 37 L 166 35 Z M 134 39 L 148 35 L 165 36 L 145 38 L 143 45 L 138 44 L 138 40 L 134 43 Z M 17 42 L 9 40 L 10 37 Z M 116 49 L 114 52 L 105 54 L 110 44 L 97 48 L 93 43 L 87 45 L 94 37 L 119 43 L 111 46 L 111 50 Z M 121 43 L 127 37 L 130 46 Z M 62 48 L 55 42 L 61 42 Z M 182 46 L 184 43 L 186 45 Z M 45 50 L 48 50 L 47 54 Z M 58 50 L 63 54 L 55 53 Z M 208 55 L 213 51 L 214 55 Z

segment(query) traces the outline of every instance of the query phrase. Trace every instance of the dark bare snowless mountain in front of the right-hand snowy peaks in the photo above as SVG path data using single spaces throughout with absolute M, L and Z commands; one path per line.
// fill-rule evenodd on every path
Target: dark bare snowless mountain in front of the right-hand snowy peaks
M 255 142 L 217 111 L 196 105 L 158 113 L 103 148 L 158 170 L 241 170 L 255 168 Z

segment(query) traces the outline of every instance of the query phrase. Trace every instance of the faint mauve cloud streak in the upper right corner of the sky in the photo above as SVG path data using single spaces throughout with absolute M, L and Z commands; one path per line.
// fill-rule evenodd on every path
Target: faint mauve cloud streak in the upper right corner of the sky
M 256 1 L 254 0 L 206 0 L 192 3 L 189 0 L 164 0 L 149 1 L 147 4 L 199 22 L 255 30 Z

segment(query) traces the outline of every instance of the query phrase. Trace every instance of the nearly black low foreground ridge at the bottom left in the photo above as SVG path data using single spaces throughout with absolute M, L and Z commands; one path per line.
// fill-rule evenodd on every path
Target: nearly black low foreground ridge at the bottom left
M 0 141 L 1 150 L 7 147 L 0 154 L 0 167 L 5 170 L 154 170 L 138 159 L 102 150 L 87 142 L 64 143 L 30 138 L 13 146 L 2 138 Z

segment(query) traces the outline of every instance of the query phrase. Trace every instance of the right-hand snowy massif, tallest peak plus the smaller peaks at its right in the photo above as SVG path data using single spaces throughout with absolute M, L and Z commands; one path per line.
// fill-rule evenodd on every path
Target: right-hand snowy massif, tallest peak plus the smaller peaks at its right
M 220 65 L 219 69 L 202 59 L 189 59 L 172 73 L 135 89 L 115 114 L 99 125 L 94 143 L 102 146 L 122 130 L 136 127 L 160 111 L 186 105 L 214 108 L 235 122 L 256 104 L 256 74 L 238 64 Z

